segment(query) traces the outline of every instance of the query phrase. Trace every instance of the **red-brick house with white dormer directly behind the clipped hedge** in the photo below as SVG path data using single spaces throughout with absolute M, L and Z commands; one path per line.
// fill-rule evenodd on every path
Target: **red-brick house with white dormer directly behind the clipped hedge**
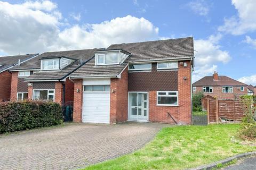
M 47 52 L 12 67 L 11 100 L 53 100 L 73 105 L 74 82 L 68 75 L 100 49 Z

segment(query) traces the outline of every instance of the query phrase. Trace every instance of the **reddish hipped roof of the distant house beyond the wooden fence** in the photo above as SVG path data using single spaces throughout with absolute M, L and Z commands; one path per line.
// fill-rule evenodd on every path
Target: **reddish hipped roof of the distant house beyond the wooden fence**
M 231 79 L 225 75 L 219 75 L 218 80 L 213 80 L 212 76 L 205 76 L 204 78 L 193 83 L 192 86 L 247 86 L 247 84 Z

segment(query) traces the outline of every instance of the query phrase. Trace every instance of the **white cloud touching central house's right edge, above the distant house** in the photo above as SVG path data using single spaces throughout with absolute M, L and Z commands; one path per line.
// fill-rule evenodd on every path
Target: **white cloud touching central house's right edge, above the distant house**
M 218 63 L 227 63 L 231 60 L 226 50 L 221 50 L 218 45 L 221 35 L 211 35 L 208 39 L 198 39 L 194 41 L 195 46 L 195 71 L 193 72 L 193 82 L 211 75 L 217 71 Z

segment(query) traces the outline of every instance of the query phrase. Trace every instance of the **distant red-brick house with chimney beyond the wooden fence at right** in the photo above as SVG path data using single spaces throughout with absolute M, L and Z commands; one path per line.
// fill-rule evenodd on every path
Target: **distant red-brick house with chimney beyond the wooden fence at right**
M 248 85 L 214 72 L 212 76 L 205 76 L 192 86 L 193 93 L 203 91 L 205 96 L 209 95 L 219 100 L 234 100 L 247 95 Z

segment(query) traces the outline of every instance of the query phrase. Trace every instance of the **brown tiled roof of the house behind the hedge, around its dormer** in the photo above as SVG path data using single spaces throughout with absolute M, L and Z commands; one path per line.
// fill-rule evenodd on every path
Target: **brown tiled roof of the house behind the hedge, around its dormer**
M 78 67 L 81 66 L 81 61 L 87 62 L 94 56 L 94 51 L 100 50 L 97 48 L 94 49 L 83 49 L 83 50 L 70 50 L 70 51 L 63 51 L 63 52 L 47 52 L 39 55 L 37 61 L 33 61 L 31 63 L 34 64 L 34 67 L 40 69 L 41 61 L 39 60 L 42 57 L 51 57 L 51 56 L 65 56 L 76 59 L 76 61 L 68 66 L 66 66 L 61 71 L 40 71 L 36 72 L 29 77 L 25 78 L 25 81 L 39 81 L 39 80 L 62 80 L 67 77 L 71 72 L 76 70 Z M 29 63 L 27 63 L 29 65 Z

